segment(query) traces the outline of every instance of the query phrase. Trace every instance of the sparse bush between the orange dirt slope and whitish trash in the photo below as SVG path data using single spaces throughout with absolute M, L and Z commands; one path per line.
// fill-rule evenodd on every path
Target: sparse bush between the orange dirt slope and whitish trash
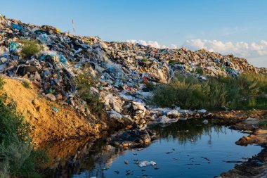
M 98 79 L 91 76 L 89 72 L 83 72 L 76 79 L 79 96 L 86 101 L 91 112 L 95 114 L 99 114 L 104 108 L 104 103 L 100 101 L 98 94 L 91 91 L 91 87 L 96 87 L 97 83 Z

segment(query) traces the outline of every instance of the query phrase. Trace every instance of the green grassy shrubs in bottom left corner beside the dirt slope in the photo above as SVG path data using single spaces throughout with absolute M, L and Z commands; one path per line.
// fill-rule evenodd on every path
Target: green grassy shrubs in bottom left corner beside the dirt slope
M 0 89 L 3 85 L 0 77 Z M 6 99 L 0 96 L 0 177 L 42 177 L 46 153 L 34 150 L 30 124 L 16 112 L 15 103 L 6 105 Z

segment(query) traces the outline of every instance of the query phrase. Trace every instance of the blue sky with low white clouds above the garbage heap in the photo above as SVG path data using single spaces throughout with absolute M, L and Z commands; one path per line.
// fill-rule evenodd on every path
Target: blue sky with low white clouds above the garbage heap
M 0 13 L 105 41 L 234 53 L 267 67 L 267 1 L 0 0 Z M 150 42 L 149 42 L 150 41 Z

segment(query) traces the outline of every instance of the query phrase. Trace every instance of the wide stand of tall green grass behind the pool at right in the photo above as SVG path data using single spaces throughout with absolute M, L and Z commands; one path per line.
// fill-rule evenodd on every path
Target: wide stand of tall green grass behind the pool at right
M 193 76 L 177 75 L 170 84 L 155 89 L 153 101 L 158 106 L 181 108 L 266 109 L 267 76 L 247 74 L 200 81 Z

